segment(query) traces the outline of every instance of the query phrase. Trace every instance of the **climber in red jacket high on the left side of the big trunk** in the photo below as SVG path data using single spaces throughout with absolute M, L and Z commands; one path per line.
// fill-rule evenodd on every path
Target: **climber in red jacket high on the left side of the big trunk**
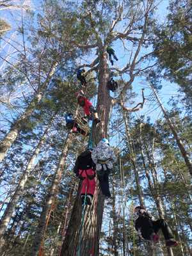
M 84 114 L 89 118 L 93 119 L 96 124 L 100 122 L 100 119 L 98 118 L 97 111 L 93 108 L 92 102 L 90 102 L 84 95 L 80 93 L 76 93 L 77 95 L 77 102 L 78 104 L 83 108 Z

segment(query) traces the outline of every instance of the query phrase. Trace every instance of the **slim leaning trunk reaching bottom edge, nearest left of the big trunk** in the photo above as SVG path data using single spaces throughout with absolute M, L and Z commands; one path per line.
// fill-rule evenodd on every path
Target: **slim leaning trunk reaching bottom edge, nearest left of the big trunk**
M 68 133 L 67 139 L 65 141 L 65 145 L 63 147 L 63 150 L 60 156 L 60 162 L 58 164 L 58 168 L 54 173 L 54 178 L 52 179 L 51 188 L 45 200 L 45 205 L 40 216 L 39 224 L 35 231 L 35 236 L 34 236 L 35 238 L 33 241 L 33 246 L 31 248 L 31 256 L 38 256 L 41 243 L 44 239 L 47 218 L 49 216 L 49 212 L 51 211 L 51 206 L 52 206 L 52 203 L 54 202 L 54 197 L 56 196 L 58 191 L 58 186 L 60 184 L 61 174 L 65 166 L 65 159 L 67 157 L 68 146 L 71 142 L 71 139 L 72 139 L 72 134 Z

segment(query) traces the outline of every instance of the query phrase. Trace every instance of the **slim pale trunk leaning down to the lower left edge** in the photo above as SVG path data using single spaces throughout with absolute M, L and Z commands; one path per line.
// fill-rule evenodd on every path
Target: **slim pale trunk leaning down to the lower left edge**
M 33 170 L 33 166 L 36 160 L 36 157 L 38 156 L 38 153 L 40 152 L 40 148 L 42 145 L 44 145 L 45 138 L 47 136 L 47 131 L 49 127 L 45 129 L 44 135 L 42 136 L 41 140 L 39 141 L 38 145 L 36 146 L 35 152 L 33 153 L 33 156 L 29 159 L 28 166 L 26 167 L 26 170 L 24 170 L 24 173 L 22 174 L 22 177 L 20 178 L 19 184 L 17 188 L 15 189 L 15 192 L 12 196 L 12 199 L 10 200 L 8 206 L 6 207 L 6 210 L 4 211 L 3 217 L 1 218 L 1 224 L 0 224 L 0 241 L 1 241 L 1 247 L 3 246 L 3 236 L 6 231 L 6 228 L 8 227 L 8 223 L 10 222 L 10 219 L 12 218 L 13 212 L 15 211 L 15 207 L 17 205 L 17 202 L 19 201 L 20 196 L 24 193 L 24 188 L 26 186 L 26 182 L 28 181 L 29 174 L 31 173 L 31 170 Z M 0 249 L 1 249 L 0 247 Z

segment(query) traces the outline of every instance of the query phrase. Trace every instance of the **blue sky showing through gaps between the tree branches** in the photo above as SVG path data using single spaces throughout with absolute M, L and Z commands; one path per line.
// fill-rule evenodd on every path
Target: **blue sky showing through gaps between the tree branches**
M 16 1 L 16 2 L 19 4 L 23 3 L 24 5 L 26 4 L 30 5 L 32 10 L 35 13 L 39 13 L 42 10 L 42 7 L 41 7 L 42 2 L 38 0 L 22 0 L 22 1 Z M 159 6 L 156 10 L 155 17 L 161 23 L 163 23 L 166 20 L 166 15 L 168 13 L 167 6 L 168 6 L 167 0 L 159 1 Z M 21 10 L 9 10 L 9 11 L 6 10 L 1 13 L 3 13 L 3 16 L 6 18 L 6 20 L 10 22 L 10 24 L 12 24 L 12 30 L 6 34 L 6 38 L 15 36 L 14 40 L 22 44 L 22 38 L 17 34 L 17 27 L 20 26 Z M 26 15 L 25 12 L 24 12 L 24 15 Z M 125 42 L 125 44 L 127 44 L 127 47 L 129 48 L 129 42 Z M 1 42 L 1 46 L 2 45 L 4 45 L 3 41 Z M 127 60 L 129 60 L 130 52 L 122 51 L 122 42 L 120 41 L 115 42 L 113 47 L 115 49 L 116 55 L 118 56 L 118 61 L 115 61 L 114 67 L 122 68 L 126 65 Z M 3 51 L 1 51 L 1 54 L 5 56 L 7 51 L 12 52 L 14 51 L 14 49 L 10 49 L 10 47 L 7 45 L 7 47 L 5 47 Z M 148 49 L 143 48 L 140 55 L 145 54 L 149 51 L 152 51 L 152 48 L 148 48 Z M 13 61 L 12 56 L 14 56 L 14 54 L 13 55 L 10 54 L 10 55 L 11 55 L 10 61 Z M 92 56 L 90 56 L 90 58 L 88 58 L 88 60 L 91 62 L 94 57 L 95 55 L 93 54 Z M 79 60 L 79 64 L 86 63 L 86 62 L 87 60 L 85 59 Z M 1 67 L 1 60 L 0 60 L 0 67 Z M 128 77 L 124 76 L 124 79 L 126 81 Z M 163 88 L 161 89 L 161 91 L 159 91 L 159 96 L 164 104 L 164 107 L 166 109 L 170 109 L 170 104 L 168 104 L 168 101 L 172 96 L 177 97 L 177 95 L 179 94 L 177 92 L 179 89 L 179 86 L 177 86 L 177 84 L 173 84 L 165 80 L 162 81 L 162 85 L 163 85 Z M 142 100 L 141 88 L 145 88 L 146 97 L 150 95 L 150 90 L 148 89 L 147 83 L 145 82 L 145 80 L 143 80 L 142 77 L 136 77 L 136 79 L 134 79 L 134 82 L 132 83 L 132 88 L 133 88 L 133 92 L 137 93 L 138 96 L 135 99 L 130 99 L 130 102 L 127 103 L 128 107 L 135 106 L 135 104 L 137 104 L 138 102 L 141 102 Z M 113 95 L 113 93 L 111 93 L 111 95 Z M 131 105 L 130 103 L 132 100 L 134 100 L 135 103 Z M 150 116 L 151 121 L 155 122 L 157 118 L 162 116 L 162 113 L 159 108 L 156 109 L 156 104 L 154 102 L 147 101 L 145 102 L 145 105 L 141 111 L 133 113 L 132 115 L 136 115 L 137 117 L 140 115 L 146 115 L 146 117 Z

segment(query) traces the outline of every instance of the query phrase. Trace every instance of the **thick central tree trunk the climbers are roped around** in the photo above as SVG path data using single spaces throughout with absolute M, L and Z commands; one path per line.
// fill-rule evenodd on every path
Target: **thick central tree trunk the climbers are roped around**
M 100 124 L 93 124 L 93 142 L 95 145 L 107 136 L 108 122 L 111 113 L 111 97 L 107 89 L 109 79 L 109 69 L 107 56 L 104 49 L 100 46 L 100 64 L 99 64 L 99 88 L 97 98 L 97 112 L 101 120 Z M 63 241 L 61 256 L 74 256 L 79 250 L 78 241 L 80 241 L 80 255 L 99 256 L 99 239 L 102 226 L 102 214 L 104 210 L 104 198 L 98 189 L 95 191 L 95 198 L 92 207 L 86 207 L 83 221 L 82 235 L 79 237 L 79 226 L 81 223 L 81 203 L 79 195 L 76 197 L 70 221 L 68 223 L 67 234 Z M 76 223 L 76 225 L 74 225 Z

